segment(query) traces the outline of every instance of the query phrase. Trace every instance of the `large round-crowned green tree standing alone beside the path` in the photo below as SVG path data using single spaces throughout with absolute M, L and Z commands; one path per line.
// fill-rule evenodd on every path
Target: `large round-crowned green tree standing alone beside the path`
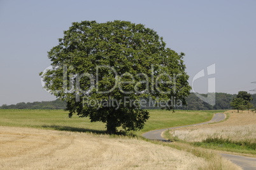
M 117 127 L 143 128 L 146 99 L 167 109 L 185 104 L 191 88 L 183 55 L 142 24 L 73 22 L 48 52 L 52 69 L 40 75 L 45 88 L 67 102 L 69 117 L 105 122 L 112 134 Z

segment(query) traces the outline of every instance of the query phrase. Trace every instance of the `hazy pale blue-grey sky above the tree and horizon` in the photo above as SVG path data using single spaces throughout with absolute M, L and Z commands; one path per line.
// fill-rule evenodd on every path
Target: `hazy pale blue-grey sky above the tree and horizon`
M 167 47 L 186 54 L 190 85 L 216 64 L 216 74 L 194 81 L 196 92 L 206 93 L 213 77 L 217 92 L 249 92 L 256 89 L 255 9 L 255 0 L 0 0 L 0 106 L 55 99 L 42 89 L 38 73 L 50 66 L 47 52 L 63 31 L 82 20 L 129 20 L 157 31 Z

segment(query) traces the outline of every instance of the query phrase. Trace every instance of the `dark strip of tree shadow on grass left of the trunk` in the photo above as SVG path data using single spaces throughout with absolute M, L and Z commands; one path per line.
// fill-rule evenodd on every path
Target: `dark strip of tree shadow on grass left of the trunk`
M 94 129 L 85 129 L 80 127 L 69 127 L 62 125 L 42 125 L 43 128 L 54 129 L 57 131 L 69 131 L 69 132 L 92 132 L 94 134 L 106 134 L 106 131 L 99 131 Z

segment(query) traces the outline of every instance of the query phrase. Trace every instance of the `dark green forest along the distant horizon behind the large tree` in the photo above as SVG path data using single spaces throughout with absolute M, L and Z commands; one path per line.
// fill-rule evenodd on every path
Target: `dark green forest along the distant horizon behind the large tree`
M 206 94 L 201 94 L 207 96 Z M 199 99 L 194 93 L 191 93 L 187 97 L 187 106 L 178 107 L 178 110 L 231 110 L 231 101 L 236 97 L 236 94 L 225 94 L 216 93 L 216 104 L 211 106 Z M 252 94 L 252 103 L 256 106 L 256 94 Z M 29 110 L 64 110 L 66 108 L 66 103 L 60 101 L 59 99 L 55 101 L 41 101 L 33 103 L 17 103 L 0 106 L 0 109 L 29 109 Z M 160 109 L 160 108 L 145 108 L 145 109 Z

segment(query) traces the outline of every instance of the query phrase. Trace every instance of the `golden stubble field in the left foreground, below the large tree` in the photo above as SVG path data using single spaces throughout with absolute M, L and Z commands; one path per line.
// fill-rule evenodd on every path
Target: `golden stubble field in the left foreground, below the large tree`
M 0 126 L 0 169 L 199 169 L 205 160 L 140 139 Z

